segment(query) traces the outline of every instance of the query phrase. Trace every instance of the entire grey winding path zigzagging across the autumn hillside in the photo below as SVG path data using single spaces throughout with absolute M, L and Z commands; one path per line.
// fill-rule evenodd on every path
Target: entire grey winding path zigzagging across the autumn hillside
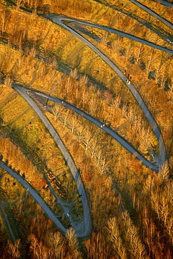
M 137 1 L 134 1 L 134 0 L 130 0 L 130 1 L 132 1 L 132 3 L 135 2 L 135 4 L 137 4 L 139 7 L 143 6 L 143 5 L 141 5 L 141 3 L 137 2 Z M 148 13 L 151 13 L 152 15 L 154 14 L 153 16 L 155 16 L 155 18 L 158 18 L 159 15 L 155 14 L 149 8 L 146 8 L 145 6 L 143 6 L 141 8 L 143 8 L 144 10 L 147 9 Z M 64 22 L 66 22 L 66 23 L 67 22 L 77 22 L 77 23 L 81 23 L 83 25 L 97 27 L 98 29 L 104 29 L 106 31 L 110 31 L 112 33 L 116 33 L 116 34 L 118 34 L 120 36 L 125 36 L 127 38 L 131 38 L 132 40 L 139 41 L 140 43 L 144 43 L 146 45 L 150 45 L 153 48 L 158 48 L 158 49 L 160 49 L 162 51 L 166 51 L 166 52 L 168 52 L 170 54 L 173 54 L 173 50 L 169 50 L 167 48 L 163 48 L 163 47 L 161 47 L 159 45 L 156 45 L 154 43 L 150 43 L 148 41 L 144 41 L 141 38 L 137 38 L 137 37 L 132 36 L 130 34 L 125 34 L 123 31 L 118 31 L 116 29 L 109 29 L 107 27 L 102 27 L 100 25 L 93 25 L 93 24 L 91 24 L 89 22 L 83 22 L 83 21 L 76 20 L 76 19 L 73 19 L 73 18 L 64 18 L 64 17 L 62 17 L 60 15 L 55 15 L 54 17 L 50 17 L 48 15 L 43 15 L 43 17 L 48 18 L 49 20 L 52 20 L 57 25 L 60 25 L 61 27 L 64 27 L 64 29 L 67 29 L 72 34 L 74 34 L 75 36 L 80 38 L 81 41 L 83 41 L 90 48 L 92 48 L 92 50 L 94 50 L 97 53 L 97 55 L 99 55 L 99 57 L 101 57 L 104 60 L 104 62 L 109 64 L 109 66 L 111 66 L 111 68 L 114 71 L 116 71 L 118 76 L 120 76 L 121 80 L 123 80 L 125 85 L 127 85 L 127 87 L 129 87 L 130 91 L 134 95 L 134 98 L 137 99 L 137 102 L 139 103 L 139 106 L 141 106 L 141 109 L 144 111 L 144 114 L 145 114 L 146 118 L 148 119 L 148 122 L 151 124 L 151 127 L 153 128 L 153 132 L 155 133 L 155 136 L 158 139 L 159 148 L 160 148 L 160 164 L 159 165 L 161 166 L 167 160 L 167 153 L 166 153 L 166 149 L 165 149 L 165 144 L 164 144 L 164 141 L 162 139 L 162 134 L 161 134 L 161 132 L 159 130 L 159 127 L 158 127 L 157 123 L 155 122 L 154 118 L 151 116 L 151 113 L 148 110 L 146 104 L 144 103 L 144 100 L 141 98 L 139 92 L 135 89 L 135 87 L 134 87 L 134 85 L 132 85 L 132 83 L 130 83 L 130 84 L 126 83 L 126 79 L 127 78 L 124 76 L 123 72 L 120 71 L 120 69 L 118 69 L 118 66 L 116 66 L 113 62 L 111 62 L 111 60 L 108 57 L 106 57 L 106 55 L 104 55 L 103 52 L 98 50 L 95 47 L 95 45 L 92 45 L 92 43 L 90 43 L 86 38 L 81 36 L 81 34 L 78 34 L 78 32 L 76 32 L 74 29 L 71 29 Z M 164 23 L 166 21 L 165 19 L 160 18 L 160 17 L 159 17 L 159 20 L 162 20 L 162 22 L 164 22 Z M 170 24 L 169 22 L 166 21 L 165 24 L 167 24 L 167 26 L 173 28 L 172 24 Z M 90 235 L 91 231 L 92 231 L 91 218 L 90 218 L 90 209 L 89 209 L 89 206 L 88 206 L 87 197 L 85 195 L 85 189 L 84 189 L 83 183 L 81 181 L 81 177 L 78 174 L 78 170 L 76 169 L 76 166 L 74 165 L 74 161 L 72 160 L 71 156 L 67 152 L 64 144 L 62 143 L 60 137 L 57 135 L 57 132 L 55 132 L 55 129 L 53 128 L 53 126 L 50 124 L 48 119 L 43 115 L 43 113 L 41 112 L 39 107 L 36 106 L 36 104 L 32 101 L 32 99 L 27 94 L 28 90 L 26 90 L 24 87 L 20 87 L 18 85 L 13 85 L 13 88 L 15 90 L 17 90 L 22 95 L 22 97 L 25 98 L 25 100 L 29 103 L 29 105 L 32 106 L 34 111 L 36 111 L 36 113 L 38 114 L 39 118 L 41 118 L 42 122 L 44 123 L 44 125 L 46 126 L 46 128 L 48 129 L 50 134 L 52 135 L 53 139 L 55 139 L 55 142 L 56 142 L 57 146 L 59 146 L 60 150 L 62 151 L 62 155 L 64 155 L 64 159 L 67 161 L 67 165 L 69 165 L 69 169 L 71 169 L 71 173 L 73 174 L 74 180 L 76 181 L 76 184 L 77 184 L 77 187 L 78 187 L 78 192 L 82 195 L 81 196 L 81 200 L 82 200 L 82 204 L 83 204 L 83 221 L 74 224 L 73 228 L 76 231 L 76 235 L 78 237 L 88 237 Z M 48 95 L 43 94 L 43 93 L 38 92 L 38 91 L 36 92 L 36 94 L 39 94 L 39 95 L 41 95 L 43 97 L 48 97 Z M 58 103 L 62 102 L 61 99 L 57 99 L 55 97 L 50 97 L 49 96 L 49 98 L 53 99 L 54 102 L 58 102 Z M 71 104 L 68 104 L 67 102 L 64 102 L 64 104 L 65 104 L 65 106 L 67 106 L 67 108 L 73 109 L 74 111 L 76 111 L 76 113 L 81 114 L 84 118 L 90 120 L 92 123 L 95 123 L 95 125 L 97 125 L 98 127 L 100 127 L 102 125 L 102 123 L 100 123 L 98 120 L 96 120 L 95 118 L 92 118 L 92 116 L 89 116 L 87 113 L 81 111 L 80 109 L 77 109 L 75 106 L 72 106 Z M 158 172 L 158 167 L 156 167 L 155 165 L 153 165 L 153 163 L 151 163 L 148 160 L 146 160 L 138 151 L 136 151 L 134 148 L 132 148 L 132 146 L 130 146 L 130 144 L 128 144 L 127 141 L 125 141 L 123 138 L 121 138 L 116 132 L 113 132 L 107 126 L 102 127 L 102 130 L 104 130 L 105 132 L 108 132 L 114 139 L 119 141 L 120 144 L 122 144 L 128 151 L 130 151 L 130 153 L 135 154 L 137 156 L 137 158 L 144 163 L 144 165 L 146 165 L 147 167 L 150 167 L 151 169 L 155 170 L 155 172 Z M 4 162 L 0 162 L 0 166 L 2 168 L 6 169 L 6 171 L 9 174 L 11 174 L 11 176 L 13 176 L 15 179 L 17 179 L 22 184 L 22 186 L 24 186 L 25 188 L 28 189 L 29 193 L 34 197 L 36 202 L 38 202 L 41 205 L 41 207 L 46 212 L 46 214 L 54 221 L 55 225 L 57 225 L 57 228 L 60 228 L 60 230 L 62 230 L 62 232 L 66 232 L 67 231 L 66 228 L 64 228 L 64 226 L 60 223 L 60 221 L 57 220 L 57 217 L 55 216 L 55 214 L 53 214 L 53 211 L 51 211 L 49 209 L 47 204 L 35 192 L 35 190 L 32 188 L 32 186 L 29 185 L 29 183 L 27 183 L 24 179 L 22 179 L 22 177 L 19 176 L 17 173 L 13 172 L 13 170 L 11 168 L 7 167 L 4 164 Z

